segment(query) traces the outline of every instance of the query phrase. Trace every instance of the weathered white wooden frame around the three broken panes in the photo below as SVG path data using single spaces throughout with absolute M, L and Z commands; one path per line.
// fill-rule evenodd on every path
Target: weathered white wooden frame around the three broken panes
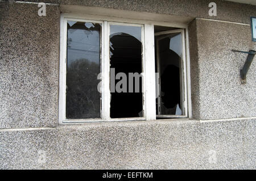
M 92 22 L 102 24 L 101 33 L 101 118 L 100 119 L 66 119 L 66 72 L 67 72 L 67 21 Z M 110 60 L 109 60 L 109 34 L 110 24 L 121 26 L 142 27 L 142 89 L 143 92 L 143 117 L 110 118 Z M 158 22 L 158 26 L 161 22 Z M 172 23 L 163 22 L 163 26 L 174 27 Z M 185 27 L 185 28 L 184 28 Z M 188 30 L 183 25 L 183 61 L 184 61 L 184 110 L 185 115 L 192 116 L 191 92 L 190 92 L 190 69 Z M 186 39 L 185 39 L 186 37 Z M 109 18 L 97 15 L 78 15 L 62 13 L 60 16 L 60 82 L 59 82 L 59 124 L 64 123 L 91 123 L 104 121 L 140 121 L 156 120 L 155 105 L 155 48 L 154 48 L 154 24 L 153 22 L 142 23 L 141 20 L 127 20 L 122 18 Z M 175 117 L 175 116 L 174 116 Z M 179 116 L 177 116 L 179 117 Z

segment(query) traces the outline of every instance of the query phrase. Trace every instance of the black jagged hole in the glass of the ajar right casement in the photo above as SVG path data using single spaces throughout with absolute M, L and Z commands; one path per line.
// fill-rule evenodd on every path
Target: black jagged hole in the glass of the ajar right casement
M 171 36 L 170 36 L 171 37 Z M 158 101 L 156 99 L 156 115 L 175 115 L 176 106 L 180 105 L 180 57 L 170 49 L 170 37 L 159 41 L 160 58 L 160 107 L 162 112 L 158 112 Z M 157 54 L 155 50 L 155 54 Z M 156 64 L 156 71 L 157 71 Z

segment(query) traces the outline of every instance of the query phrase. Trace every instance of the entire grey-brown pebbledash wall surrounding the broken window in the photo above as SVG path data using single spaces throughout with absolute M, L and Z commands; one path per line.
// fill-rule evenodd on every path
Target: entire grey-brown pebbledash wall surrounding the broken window
M 0 2 L 0 169 L 256 169 L 256 6 L 229 1 Z M 46 2 L 46 16 L 38 4 Z M 216 2 L 217 16 L 209 16 Z M 59 125 L 61 5 L 189 17 L 192 119 Z M 43 159 L 42 159 L 43 158 Z

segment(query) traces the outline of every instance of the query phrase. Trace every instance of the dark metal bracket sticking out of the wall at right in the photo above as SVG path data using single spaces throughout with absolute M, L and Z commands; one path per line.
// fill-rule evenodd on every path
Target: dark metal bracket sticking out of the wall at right
M 243 68 L 240 70 L 240 76 L 241 76 L 241 82 L 246 83 L 246 74 L 251 66 L 251 62 L 253 62 L 253 58 L 256 54 L 255 50 L 249 50 L 249 52 L 243 52 L 238 50 L 232 50 L 232 52 L 239 52 L 239 53 L 247 53 L 248 56 L 245 61 L 245 65 L 243 65 Z

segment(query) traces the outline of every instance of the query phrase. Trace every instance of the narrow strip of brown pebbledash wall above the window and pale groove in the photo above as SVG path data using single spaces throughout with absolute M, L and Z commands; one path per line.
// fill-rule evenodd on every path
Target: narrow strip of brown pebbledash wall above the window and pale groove
M 31 0 L 64 5 L 85 5 L 110 9 L 144 11 L 159 14 L 191 16 L 199 18 L 228 20 L 250 23 L 250 16 L 256 16 L 256 6 L 221 0 Z M 217 4 L 217 16 L 209 16 L 210 2 Z

